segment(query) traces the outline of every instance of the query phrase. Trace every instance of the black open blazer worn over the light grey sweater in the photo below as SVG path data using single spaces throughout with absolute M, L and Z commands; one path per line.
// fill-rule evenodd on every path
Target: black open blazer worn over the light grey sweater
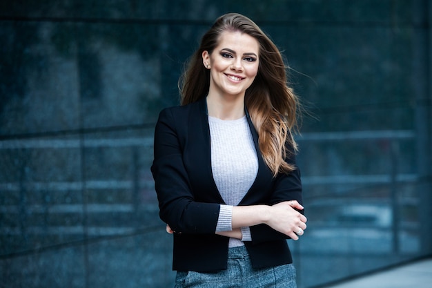
M 300 171 L 273 177 L 259 151 L 258 135 L 251 122 L 258 172 L 239 205 L 276 204 L 297 200 L 302 204 Z M 288 147 L 289 148 L 289 147 Z M 292 151 L 292 147 L 291 147 Z M 287 162 L 295 164 L 291 156 Z M 159 200 L 159 215 L 174 233 L 173 270 L 226 269 L 228 238 L 215 234 L 219 204 L 225 204 L 213 180 L 210 129 L 206 98 L 186 106 L 165 108 L 155 128 L 155 159 L 151 166 Z M 255 268 L 292 262 L 286 239 L 266 224 L 251 227 L 251 242 L 244 242 Z

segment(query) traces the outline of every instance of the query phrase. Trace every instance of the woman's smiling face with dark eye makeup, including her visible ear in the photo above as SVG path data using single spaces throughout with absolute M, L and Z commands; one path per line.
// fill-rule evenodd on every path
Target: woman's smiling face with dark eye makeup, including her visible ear
M 225 31 L 211 55 L 204 51 L 202 59 L 210 69 L 209 96 L 244 97 L 258 72 L 259 44 L 250 35 Z

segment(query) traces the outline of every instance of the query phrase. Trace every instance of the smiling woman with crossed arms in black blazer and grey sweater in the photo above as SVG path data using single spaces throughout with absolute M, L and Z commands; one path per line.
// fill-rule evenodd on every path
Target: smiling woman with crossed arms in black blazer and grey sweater
M 174 235 L 175 287 L 296 287 L 286 239 L 306 229 L 295 164 L 297 97 L 251 19 L 219 17 L 161 111 L 151 167 Z

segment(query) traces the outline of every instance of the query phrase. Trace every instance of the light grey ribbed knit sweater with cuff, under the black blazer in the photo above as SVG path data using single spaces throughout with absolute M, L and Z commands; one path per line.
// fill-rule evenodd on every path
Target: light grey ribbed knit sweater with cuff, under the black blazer
M 239 204 L 251 188 L 258 172 L 258 159 L 246 116 L 236 120 L 208 117 L 210 125 L 213 178 L 222 199 L 216 231 L 230 231 L 232 207 Z M 242 227 L 243 239 L 251 240 L 248 227 Z M 230 238 L 230 247 L 243 242 Z

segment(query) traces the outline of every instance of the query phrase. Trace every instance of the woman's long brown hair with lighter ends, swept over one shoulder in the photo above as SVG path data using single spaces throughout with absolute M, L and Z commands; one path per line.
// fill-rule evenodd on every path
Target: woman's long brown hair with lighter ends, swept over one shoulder
M 287 84 L 286 66 L 279 49 L 251 19 L 229 13 L 219 17 L 202 37 L 198 50 L 188 61 L 179 79 L 181 105 L 198 101 L 208 94 L 210 72 L 202 63 L 202 52 L 213 52 L 224 31 L 239 31 L 257 39 L 259 68 L 253 84 L 246 89 L 245 104 L 257 133 L 264 162 L 277 173 L 295 169 L 285 159 L 297 151 L 293 128 L 297 125 L 297 96 Z

